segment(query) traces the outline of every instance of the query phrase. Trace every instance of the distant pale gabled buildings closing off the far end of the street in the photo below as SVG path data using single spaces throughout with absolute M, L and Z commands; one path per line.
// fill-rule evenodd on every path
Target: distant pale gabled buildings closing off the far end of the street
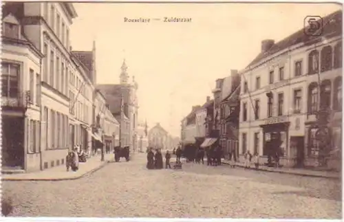
M 148 132 L 148 144 L 151 148 L 161 148 L 164 151 L 171 151 L 177 148 L 180 143 L 179 137 L 173 137 L 160 123 L 155 124 Z

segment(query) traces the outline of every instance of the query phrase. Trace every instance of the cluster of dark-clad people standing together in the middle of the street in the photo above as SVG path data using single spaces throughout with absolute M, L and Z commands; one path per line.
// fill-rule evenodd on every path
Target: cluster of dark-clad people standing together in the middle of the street
M 171 153 L 169 153 L 169 151 L 166 151 L 165 168 L 171 168 L 170 159 L 171 159 Z M 153 152 L 153 148 L 148 149 L 147 168 L 149 170 L 164 168 L 164 161 L 162 159 L 161 149 L 156 149 L 155 153 Z

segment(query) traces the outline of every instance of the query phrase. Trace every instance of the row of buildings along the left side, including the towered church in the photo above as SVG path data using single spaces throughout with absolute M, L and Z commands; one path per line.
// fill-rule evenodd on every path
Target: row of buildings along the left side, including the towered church
M 76 145 L 89 153 L 147 146 L 147 125 L 138 124 L 137 83 L 127 81 L 125 63 L 114 103 L 97 85 L 96 44 L 91 51 L 72 50 L 72 3 L 8 2 L 2 10 L 3 170 L 65 164 Z

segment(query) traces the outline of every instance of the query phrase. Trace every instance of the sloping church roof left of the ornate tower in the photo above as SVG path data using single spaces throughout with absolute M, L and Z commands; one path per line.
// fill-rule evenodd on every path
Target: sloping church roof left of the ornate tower
M 96 89 L 98 89 L 105 96 L 111 113 L 120 113 L 120 88 L 121 85 L 118 84 L 104 84 L 96 86 Z

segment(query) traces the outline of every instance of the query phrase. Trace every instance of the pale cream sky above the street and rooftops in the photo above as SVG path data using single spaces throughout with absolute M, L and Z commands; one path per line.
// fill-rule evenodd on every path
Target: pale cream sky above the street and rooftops
M 180 121 L 211 96 L 217 78 L 244 69 L 261 41 L 280 41 L 303 27 L 307 15 L 325 16 L 341 5 L 325 3 L 74 3 L 73 50 L 96 40 L 98 84 L 118 84 L 120 66 L 138 82 L 138 118 L 180 136 Z M 164 16 L 192 18 L 164 23 Z M 125 23 L 124 18 L 161 18 Z

